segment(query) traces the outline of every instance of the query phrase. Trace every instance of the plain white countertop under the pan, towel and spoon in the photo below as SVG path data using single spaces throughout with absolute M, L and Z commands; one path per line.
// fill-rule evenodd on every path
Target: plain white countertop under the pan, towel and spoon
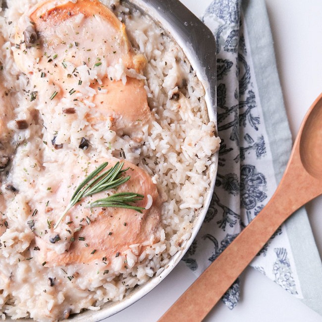
M 181 0 L 197 16 L 202 0 Z M 277 68 L 293 138 L 316 97 L 322 92 L 322 1 L 266 0 Z M 305 4 L 304 4 L 305 3 Z M 322 254 L 322 197 L 307 206 Z M 160 285 L 106 322 L 156 322 L 194 281 L 179 265 Z M 241 276 L 241 300 L 230 311 L 218 303 L 207 322 L 322 322 L 322 317 L 259 272 L 248 268 Z M 321 303 L 322 306 L 322 303 Z

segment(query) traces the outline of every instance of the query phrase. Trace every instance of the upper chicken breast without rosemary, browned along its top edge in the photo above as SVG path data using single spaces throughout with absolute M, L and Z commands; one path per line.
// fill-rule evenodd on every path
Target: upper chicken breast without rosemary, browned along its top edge
M 111 120 L 121 134 L 142 128 L 151 117 L 144 82 L 127 77 L 124 85 L 106 76 L 106 68 L 120 61 L 137 73 L 146 63 L 143 55 L 134 52 L 124 24 L 111 10 L 98 0 L 50 0 L 34 7 L 28 17 L 30 21 L 21 19 L 16 31 L 16 43 L 21 45 L 14 58 L 21 71 L 33 74 L 39 87 L 42 82 L 54 84 L 59 99 L 77 94 L 82 81 L 77 67 L 86 65 L 102 77 L 103 84 L 91 85 L 97 94 L 89 98 L 101 112 L 100 121 Z M 90 122 L 95 122 L 95 112 L 88 113 Z

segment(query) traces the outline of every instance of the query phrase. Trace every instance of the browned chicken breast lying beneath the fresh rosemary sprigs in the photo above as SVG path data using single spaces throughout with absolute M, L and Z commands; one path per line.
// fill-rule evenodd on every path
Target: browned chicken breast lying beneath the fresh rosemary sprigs
M 101 162 L 108 161 L 108 168 L 115 164 L 115 161 L 100 160 Z M 124 208 L 85 208 L 85 205 L 89 201 L 103 198 L 107 195 L 106 192 L 95 194 L 92 197 L 85 198 L 82 202 L 76 204 L 67 213 L 69 217 L 68 227 L 71 231 L 82 227 L 79 231 L 75 232 L 73 236 L 67 235 L 67 242 L 62 238 L 59 230 L 65 230 L 66 219 L 58 226 L 54 231 L 53 228 L 48 230 L 47 234 L 38 234 L 36 237 L 36 244 L 40 248 L 37 252 L 38 260 L 40 263 L 46 262 L 47 267 L 68 265 L 74 263 L 90 263 L 93 261 L 102 261 L 102 258 L 106 258 L 107 263 L 115 258 L 117 254 L 122 254 L 126 251 L 130 245 L 141 244 L 144 242 L 150 242 L 153 244 L 160 240 L 161 233 L 161 198 L 159 196 L 157 186 L 152 182 L 150 176 L 142 169 L 135 165 L 124 161 L 124 168 L 130 167 L 125 172 L 124 176 L 129 175 L 131 178 L 125 184 L 122 184 L 117 189 L 117 192 L 135 192 L 144 195 L 141 201 L 138 201 L 135 205 L 145 208 L 149 203 L 149 199 L 152 198 L 152 205 L 149 209 L 144 209 L 142 214 L 132 210 Z M 91 164 L 89 171 L 93 171 L 95 164 Z M 58 219 L 61 212 L 57 209 L 61 208 L 61 205 L 55 205 L 57 200 L 61 200 L 59 196 L 64 196 L 65 203 L 68 202 L 75 186 L 78 185 L 83 178 L 76 175 L 76 173 L 82 173 L 82 168 L 75 168 L 72 170 L 74 176 L 77 178 L 70 187 L 70 182 L 62 182 L 53 191 L 53 205 L 51 214 L 41 213 L 40 211 L 35 216 L 35 222 L 45 222 L 50 218 Z M 109 191 L 110 192 L 110 191 Z M 114 191 L 115 192 L 115 191 Z M 148 196 L 150 195 L 150 196 Z M 60 207 L 60 208 L 59 208 Z M 53 215 L 54 213 L 54 215 Z M 94 217 L 94 218 L 93 218 Z M 52 220 L 52 219 L 51 219 Z M 88 221 L 90 220 L 90 221 Z M 38 227 L 36 226 L 36 231 Z M 39 230 L 38 230 L 39 232 Z M 63 233 L 63 232 L 61 232 Z M 54 246 L 59 246 L 65 243 L 65 251 L 58 254 L 52 247 L 53 237 L 61 237 L 60 240 L 56 238 Z M 51 241 L 52 238 L 52 241 Z M 72 240 L 74 238 L 74 240 Z M 143 251 L 142 247 L 142 250 Z

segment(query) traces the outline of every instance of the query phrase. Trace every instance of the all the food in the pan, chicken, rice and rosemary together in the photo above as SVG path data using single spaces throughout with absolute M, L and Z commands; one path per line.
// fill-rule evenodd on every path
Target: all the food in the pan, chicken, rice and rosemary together
M 102 3 L 103 2 L 103 3 Z M 182 50 L 130 4 L 0 15 L 0 314 L 119 301 L 184 247 L 218 149 Z

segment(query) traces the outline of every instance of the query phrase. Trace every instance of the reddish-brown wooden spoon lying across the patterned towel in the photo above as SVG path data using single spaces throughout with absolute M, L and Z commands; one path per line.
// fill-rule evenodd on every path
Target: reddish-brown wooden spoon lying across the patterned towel
M 306 114 L 283 178 L 254 220 L 161 317 L 202 321 L 291 214 L 322 194 L 322 94 Z

